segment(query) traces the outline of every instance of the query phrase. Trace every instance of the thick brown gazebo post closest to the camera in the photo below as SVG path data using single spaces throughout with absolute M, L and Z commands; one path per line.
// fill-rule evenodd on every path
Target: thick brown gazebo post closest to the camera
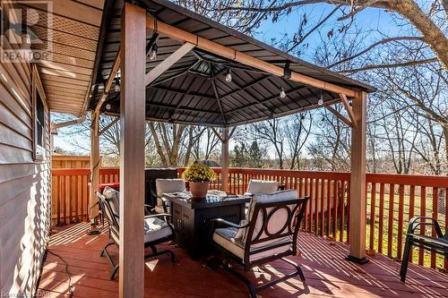
M 146 12 L 125 3 L 121 21 L 119 297 L 143 297 Z

